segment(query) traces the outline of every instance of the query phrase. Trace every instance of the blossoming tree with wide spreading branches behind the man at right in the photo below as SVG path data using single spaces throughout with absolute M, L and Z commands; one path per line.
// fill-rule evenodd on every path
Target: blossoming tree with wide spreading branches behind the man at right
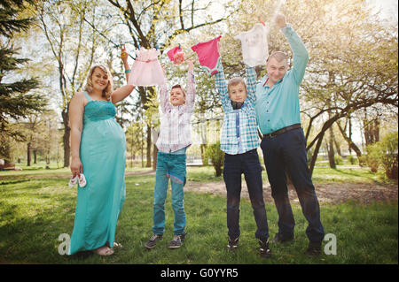
M 222 57 L 225 72 L 244 75 L 240 43 L 234 36 L 251 29 L 259 18 L 270 29 L 269 51 L 293 57 L 284 35 L 272 19 L 281 1 L 242 2 L 226 23 Z M 301 119 L 308 140 L 310 171 L 325 133 L 340 119 L 379 108 L 397 114 L 397 23 L 387 25 L 362 0 L 286 1 L 280 11 L 309 50 L 309 65 L 301 83 Z M 293 60 L 289 60 L 291 66 Z M 260 76 L 264 66 L 257 67 Z M 348 126 L 350 127 L 350 126 Z M 361 156 L 347 127 L 340 125 L 348 146 Z

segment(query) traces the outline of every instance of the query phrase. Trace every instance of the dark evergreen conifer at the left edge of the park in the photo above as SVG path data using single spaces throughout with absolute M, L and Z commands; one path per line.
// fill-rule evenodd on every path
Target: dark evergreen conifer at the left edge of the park
M 5 143 L 10 138 L 24 139 L 23 133 L 9 126 L 12 120 L 27 118 L 27 115 L 43 111 L 46 105 L 42 95 L 35 93 L 39 80 L 17 75 L 26 67 L 29 59 L 19 57 L 12 39 L 20 32 L 26 32 L 34 19 L 23 18 L 21 14 L 33 1 L 0 1 L 0 139 Z M 3 144 L 0 157 L 9 159 L 9 147 Z

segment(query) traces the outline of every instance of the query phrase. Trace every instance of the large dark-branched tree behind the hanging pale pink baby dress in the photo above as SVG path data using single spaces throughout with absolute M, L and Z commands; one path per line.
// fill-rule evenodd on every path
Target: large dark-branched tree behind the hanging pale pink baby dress
M 128 27 L 131 41 L 136 49 L 158 48 L 163 52 L 182 34 L 189 34 L 196 30 L 204 30 L 216 23 L 223 22 L 231 16 L 231 9 L 226 9 L 223 15 L 213 19 L 209 16 L 211 1 L 198 0 L 146 0 L 119 1 L 108 0 L 109 4 L 118 8 L 123 24 Z M 225 7 L 229 7 L 228 4 Z M 168 79 L 171 79 L 168 77 Z M 145 110 L 147 120 L 153 120 L 158 115 L 157 103 L 152 103 L 156 97 L 155 88 L 138 89 L 139 99 L 137 107 Z M 151 132 L 153 124 L 147 123 L 147 167 L 151 166 Z M 156 149 L 156 148 L 154 148 Z M 154 154 L 155 156 L 155 154 Z

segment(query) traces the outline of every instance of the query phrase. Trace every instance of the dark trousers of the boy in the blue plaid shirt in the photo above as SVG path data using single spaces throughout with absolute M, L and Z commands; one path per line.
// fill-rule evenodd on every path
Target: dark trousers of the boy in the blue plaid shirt
M 227 189 L 227 228 L 229 237 L 239 237 L 239 200 L 241 194 L 241 174 L 244 173 L 249 198 L 254 210 L 257 225 L 255 237 L 269 238 L 268 221 L 263 201 L 262 168 L 256 149 L 244 154 L 224 154 L 223 179 Z

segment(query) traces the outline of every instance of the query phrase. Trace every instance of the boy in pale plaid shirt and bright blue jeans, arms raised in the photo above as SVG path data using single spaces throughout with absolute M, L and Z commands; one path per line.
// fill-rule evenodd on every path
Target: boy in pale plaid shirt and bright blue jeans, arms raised
M 158 148 L 155 187 L 153 191 L 153 236 L 145 248 L 154 248 L 165 231 L 165 201 L 168 193 L 168 179 L 172 187 L 172 208 L 175 212 L 174 236 L 168 248 L 180 248 L 185 239 L 184 184 L 186 179 L 185 151 L 192 145 L 191 118 L 194 111 L 195 81 L 193 60 L 186 61 L 187 91 L 175 85 L 168 95 L 167 85 L 160 86 L 160 136 Z

